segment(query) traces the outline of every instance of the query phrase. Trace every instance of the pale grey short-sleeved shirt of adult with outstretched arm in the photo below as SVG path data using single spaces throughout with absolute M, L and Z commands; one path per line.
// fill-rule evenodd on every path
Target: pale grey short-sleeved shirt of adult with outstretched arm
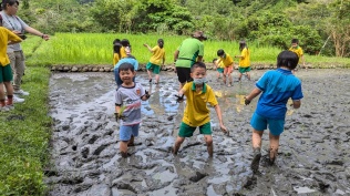
M 1 11 L 0 14 L 2 17 L 2 27 L 7 28 L 10 31 L 17 30 L 20 32 L 24 32 L 24 29 L 29 27 L 25 22 L 23 22 L 17 16 L 8 16 L 3 11 Z M 8 52 L 20 51 L 20 50 L 22 50 L 20 43 L 14 43 L 8 47 Z

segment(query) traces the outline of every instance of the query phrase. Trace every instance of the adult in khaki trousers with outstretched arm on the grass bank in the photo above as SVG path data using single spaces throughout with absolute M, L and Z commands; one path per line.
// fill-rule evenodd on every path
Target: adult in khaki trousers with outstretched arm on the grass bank
M 25 39 L 24 32 L 41 37 L 48 41 L 50 37 L 45 33 L 38 31 L 29 27 L 18 16 L 16 16 L 19 7 L 18 0 L 2 0 L 1 3 L 1 17 L 2 25 L 14 34 L 19 35 L 23 40 Z M 13 93 L 17 95 L 29 95 L 28 92 L 21 90 L 21 81 L 24 74 L 24 54 L 20 43 L 11 44 L 8 47 L 7 53 L 10 58 L 11 69 L 13 73 Z

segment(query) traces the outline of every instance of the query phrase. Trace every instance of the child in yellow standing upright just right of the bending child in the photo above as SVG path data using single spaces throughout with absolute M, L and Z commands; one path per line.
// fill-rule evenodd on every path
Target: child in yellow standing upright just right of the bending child
M 248 49 L 248 45 L 246 41 L 239 42 L 239 51 L 240 55 L 236 55 L 235 58 L 239 58 L 238 63 L 238 82 L 240 82 L 241 75 L 246 74 L 248 80 L 250 81 L 250 50 Z

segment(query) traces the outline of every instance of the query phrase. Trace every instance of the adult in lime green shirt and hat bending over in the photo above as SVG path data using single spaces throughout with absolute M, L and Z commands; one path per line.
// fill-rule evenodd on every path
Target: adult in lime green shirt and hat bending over
M 182 42 L 174 53 L 175 69 L 179 82 L 179 90 L 191 82 L 191 68 L 196 62 L 203 62 L 204 44 L 207 40 L 203 31 L 195 31 L 192 38 L 187 38 Z

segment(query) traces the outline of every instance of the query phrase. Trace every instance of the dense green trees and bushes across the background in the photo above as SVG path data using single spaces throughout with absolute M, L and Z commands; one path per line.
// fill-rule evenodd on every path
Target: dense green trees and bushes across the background
M 19 14 L 54 32 L 189 34 L 350 55 L 350 0 L 25 0 Z

